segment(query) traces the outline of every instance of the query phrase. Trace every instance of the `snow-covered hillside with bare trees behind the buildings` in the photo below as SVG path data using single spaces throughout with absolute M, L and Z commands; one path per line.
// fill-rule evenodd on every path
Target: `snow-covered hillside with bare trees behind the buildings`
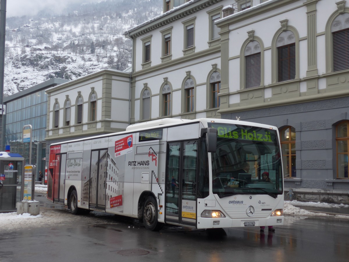
M 110 66 L 125 70 L 132 42 L 124 31 L 161 14 L 162 4 L 108 0 L 8 18 L 4 96 L 53 77 L 73 80 Z

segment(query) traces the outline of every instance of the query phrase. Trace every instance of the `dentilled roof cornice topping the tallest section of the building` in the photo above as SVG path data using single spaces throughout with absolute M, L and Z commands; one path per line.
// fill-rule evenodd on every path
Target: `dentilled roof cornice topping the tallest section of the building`
M 134 28 L 124 32 L 126 38 L 135 38 L 147 34 L 160 27 L 166 26 L 174 21 L 195 14 L 202 9 L 215 5 L 223 0 L 192 0 L 176 8 L 173 8 L 166 13 L 163 13 L 154 19 L 144 22 Z

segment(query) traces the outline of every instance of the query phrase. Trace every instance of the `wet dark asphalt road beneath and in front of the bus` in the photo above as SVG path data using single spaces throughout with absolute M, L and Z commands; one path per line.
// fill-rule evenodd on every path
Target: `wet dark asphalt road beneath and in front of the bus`
M 89 214 L 68 225 L 0 230 L 0 261 L 349 261 L 348 219 L 285 217 L 275 228 L 150 232 L 135 219 Z

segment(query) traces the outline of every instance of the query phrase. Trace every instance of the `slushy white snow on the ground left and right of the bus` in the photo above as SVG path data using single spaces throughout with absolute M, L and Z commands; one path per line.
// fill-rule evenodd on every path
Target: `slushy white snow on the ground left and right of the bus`
M 35 192 L 46 194 L 47 185 L 35 185 Z M 343 215 L 329 215 L 325 213 L 314 213 L 307 211 L 297 206 L 309 206 L 318 208 L 349 208 L 349 205 L 344 204 L 328 204 L 321 202 L 300 202 L 300 201 L 285 201 L 284 202 L 284 216 L 285 223 L 292 223 L 295 219 L 305 219 L 307 217 L 331 217 L 338 219 L 349 219 L 349 216 Z M 91 217 L 79 216 L 79 219 L 84 220 L 83 223 L 95 223 L 95 219 Z M 55 210 L 50 208 L 40 208 L 40 214 L 37 216 L 30 216 L 27 213 L 17 215 L 16 212 L 0 213 L 0 232 L 4 230 L 17 230 L 18 228 L 35 228 L 43 226 L 55 225 L 73 225 L 76 223 L 76 216 L 71 215 L 65 210 Z M 80 222 L 79 222 L 80 223 Z

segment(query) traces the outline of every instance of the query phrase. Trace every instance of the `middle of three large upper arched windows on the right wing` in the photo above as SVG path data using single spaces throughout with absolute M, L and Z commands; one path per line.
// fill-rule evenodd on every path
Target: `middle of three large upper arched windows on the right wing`
M 276 39 L 278 82 L 296 77 L 296 38 L 290 31 L 283 31 Z

